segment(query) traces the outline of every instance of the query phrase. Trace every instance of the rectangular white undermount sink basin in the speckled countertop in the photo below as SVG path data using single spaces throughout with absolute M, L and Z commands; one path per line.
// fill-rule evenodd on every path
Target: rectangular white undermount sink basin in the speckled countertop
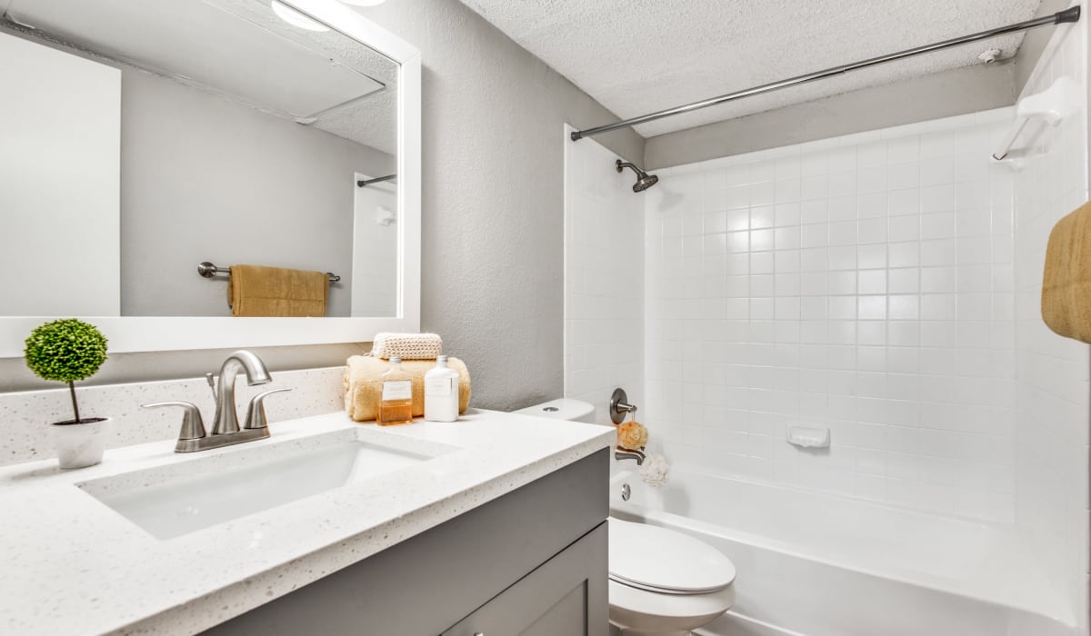
M 263 442 L 76 485 L 153 537 L 172 539 L 457 449 L 362 427 Z

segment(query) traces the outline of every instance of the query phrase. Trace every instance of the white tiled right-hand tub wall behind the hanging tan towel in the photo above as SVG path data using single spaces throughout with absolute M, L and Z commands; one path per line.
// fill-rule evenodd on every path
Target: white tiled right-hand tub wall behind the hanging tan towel
M 1067 76 L 1087 86 L 1087 21 L 1058 28 L 1023 95 Z M 1080 94 L 1086 94 L 1081 91 Z M 1015 176 L 1016 515 L 1087 633 L 1088 347 L 1041 320 L 1045 244 L 1064 215 L 1088 200 L 1087 105 L 1057 127 L 1034 123 Z

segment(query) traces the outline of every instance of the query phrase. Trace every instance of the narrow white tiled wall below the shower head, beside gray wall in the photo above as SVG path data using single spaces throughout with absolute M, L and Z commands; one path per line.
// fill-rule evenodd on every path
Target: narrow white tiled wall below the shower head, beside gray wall
M 564 131 L 564 395 L 594 404 L 604 424 L 619 386 L 644 406 L 646 193 L 633 192 L 632 170 L 618 173 L 618 155 L 594 140 L 572 143 L 572 130 Z

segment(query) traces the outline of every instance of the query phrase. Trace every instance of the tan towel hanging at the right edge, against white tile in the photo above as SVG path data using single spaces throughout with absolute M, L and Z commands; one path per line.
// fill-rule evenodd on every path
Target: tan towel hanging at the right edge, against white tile
M 1057 221 L 1050 232 L 1042 320 L 1058 335 L 1091 343 L 1091 203 Z

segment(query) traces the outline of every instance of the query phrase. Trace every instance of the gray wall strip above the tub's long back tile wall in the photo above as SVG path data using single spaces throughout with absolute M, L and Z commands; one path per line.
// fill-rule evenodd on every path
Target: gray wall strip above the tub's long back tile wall
M 976 112 L 1015 103 L 1015 64 L 979 64 L 654 136 L 647 168 Z

